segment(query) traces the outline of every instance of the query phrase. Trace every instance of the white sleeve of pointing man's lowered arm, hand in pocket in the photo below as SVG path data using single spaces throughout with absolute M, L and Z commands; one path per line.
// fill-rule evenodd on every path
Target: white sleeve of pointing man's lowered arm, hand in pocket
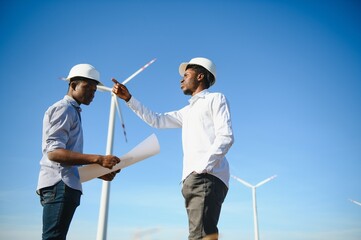
M 212 172 L 217 164 L 225 158 L 228 150 L 234 142 L 231 113 L 227 99 L 223 94 L 216 96 L 211 101 L 211 115 L 214 123 L 215 139 L 209 150 L 205 154 L 207 163 L 197 172 Z

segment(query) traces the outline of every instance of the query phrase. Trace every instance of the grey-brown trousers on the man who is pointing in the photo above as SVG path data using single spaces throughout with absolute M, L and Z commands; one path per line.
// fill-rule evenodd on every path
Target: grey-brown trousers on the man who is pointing
M 228 188 L 219 178 L 207 174 L 190 174 L 183 182 L 182 194 L 189 222 L 189 240 L 213 236 L 218 239 L 218 219 Z

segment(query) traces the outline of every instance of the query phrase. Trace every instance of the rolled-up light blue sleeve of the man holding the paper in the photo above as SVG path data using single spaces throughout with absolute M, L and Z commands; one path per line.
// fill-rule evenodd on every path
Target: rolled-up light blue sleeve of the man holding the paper
M 49 109 L 44 116 L 45 152 L 66 149 L 74 119 L 67 106 Z

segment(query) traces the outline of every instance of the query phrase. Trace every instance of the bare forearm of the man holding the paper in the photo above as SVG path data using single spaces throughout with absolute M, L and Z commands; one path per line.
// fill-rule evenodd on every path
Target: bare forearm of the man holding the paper
M 52 152 L 48 152 L 49 160 L 67 165 L 86 165 L 99 163 L 100 157 L 100 155 L 82 154 L 66 149 L 56 149 Z

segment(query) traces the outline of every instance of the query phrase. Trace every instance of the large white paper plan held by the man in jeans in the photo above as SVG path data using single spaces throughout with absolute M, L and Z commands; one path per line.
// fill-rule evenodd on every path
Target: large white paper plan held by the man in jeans
M 127 154 L 119 157 L 120 163 L 115 165 L 112 169 L 104 168 L 99 164 L 90 164 L 79 167 L 80 182 L 86 182 L 93 178 L 103 176 L 105 174 L 126 168 L 134 163 L 140 162 L 146 158 L 154 156 L 160 152 L 160 146 L 155 134 L 139 143 Z

